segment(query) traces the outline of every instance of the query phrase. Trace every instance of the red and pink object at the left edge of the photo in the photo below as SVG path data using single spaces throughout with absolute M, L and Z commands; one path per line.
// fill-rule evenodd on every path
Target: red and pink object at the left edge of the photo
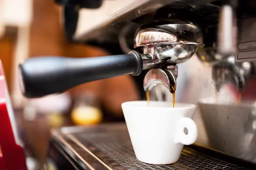
M 3 65 L 0 61 L 0 170 L 26 170 L 26 158 L 23 148 L 17 144 L 17 132 L 14 126 L 8 89 L 6 86 Z M 16 137 L 16 140 L 15 140 Z

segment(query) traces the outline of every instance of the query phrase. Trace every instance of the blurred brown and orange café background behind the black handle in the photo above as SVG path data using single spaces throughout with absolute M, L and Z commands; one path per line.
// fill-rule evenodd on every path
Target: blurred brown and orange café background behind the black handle
M 93 43 L 68 43 L 62 28 L 62 14 L 52 0 L 0 0 L 0 59 L 31 170 L 43 168 L 52 127 L 123 121 L 121 103 L 144 95 L 137 88 L 143 79 L 135 81 L 127 75 L 83 84 L 58 95 L 23 98 L 17 84 L 17 65 L 26 58 L 122 53 L 108 45 L 101 49 Z

